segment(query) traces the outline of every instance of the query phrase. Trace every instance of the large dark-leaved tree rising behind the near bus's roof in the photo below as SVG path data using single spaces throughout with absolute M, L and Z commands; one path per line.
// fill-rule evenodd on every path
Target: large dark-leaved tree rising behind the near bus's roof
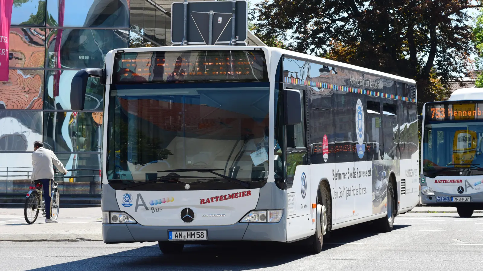
M 264 0 L 256 35 L 317 54 L 416 80 L 418 103 L 471 68 L 471 0 Z

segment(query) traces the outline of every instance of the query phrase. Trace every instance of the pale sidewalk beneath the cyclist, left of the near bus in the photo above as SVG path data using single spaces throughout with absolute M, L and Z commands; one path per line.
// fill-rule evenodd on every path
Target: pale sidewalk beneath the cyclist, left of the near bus
M 0 241 L 102 241 L 100 208 L 60 208 L 58 223 L 27 224 L 23 208 L 0 208 Z

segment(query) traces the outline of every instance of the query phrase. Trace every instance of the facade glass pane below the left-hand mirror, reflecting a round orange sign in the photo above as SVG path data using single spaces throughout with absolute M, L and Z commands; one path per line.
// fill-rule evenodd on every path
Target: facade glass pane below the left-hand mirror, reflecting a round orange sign
M 44 147 L 52 151 L 101 151 L 102 121 L 97 114 L 44 112 Z

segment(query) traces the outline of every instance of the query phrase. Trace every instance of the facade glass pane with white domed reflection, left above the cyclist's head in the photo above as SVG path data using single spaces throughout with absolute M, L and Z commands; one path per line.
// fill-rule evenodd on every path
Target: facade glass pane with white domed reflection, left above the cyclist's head
M 39 111 L 0 111 L 0 151 L 28 151 L 35 141 L 42 141 L 42 114 Z

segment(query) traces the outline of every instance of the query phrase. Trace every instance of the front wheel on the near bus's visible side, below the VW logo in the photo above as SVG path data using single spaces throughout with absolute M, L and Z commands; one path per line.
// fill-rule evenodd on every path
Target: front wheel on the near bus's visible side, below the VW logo
M 315 233 L 311 237 L 309 237 L 309 244 L 307 246 L 307 252 L 310 254 L 319 254 L 322 251 L 322 244 L 324 244 L 324 235 L 327 234 L 327 203 L 330 200 L 330 197 L 322 197 L 322 195 L 327 195 L 328 193 L 325 185 L 321 187 L 321 190 L 319 190 L 319 192 L 317 193 Z

